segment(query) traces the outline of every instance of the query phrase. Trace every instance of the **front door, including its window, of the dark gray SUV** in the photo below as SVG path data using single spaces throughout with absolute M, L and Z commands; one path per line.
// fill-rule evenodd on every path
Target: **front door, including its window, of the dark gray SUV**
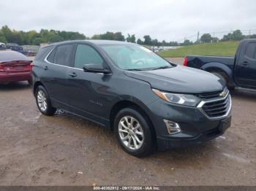
M 83 65 L 97 63 L 105 65 L 99 52 L 88 44 L 78 44 L 74 68 L 69 69 L 69 92 L 72 112 L 105 125 L 105 113 L 113 95 L 108 93 L 111 75 L 83 71 Z

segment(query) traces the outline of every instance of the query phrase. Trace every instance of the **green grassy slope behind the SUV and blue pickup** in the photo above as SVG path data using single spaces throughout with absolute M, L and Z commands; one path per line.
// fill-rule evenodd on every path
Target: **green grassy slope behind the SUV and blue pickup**
M 159 55 L 165 58 L 185 57 L 186 55 L 223 55 L 233 56 L 236 53 L 238 42 L 218 42 L 194 44 L 187 47 L 180 47 L 176 50 L 165 50 Z

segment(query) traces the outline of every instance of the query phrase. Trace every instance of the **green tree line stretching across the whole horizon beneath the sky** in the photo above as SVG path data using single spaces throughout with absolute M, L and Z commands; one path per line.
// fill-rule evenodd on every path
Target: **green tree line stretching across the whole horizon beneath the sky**
M 39 45 L 42 43 L 53 43 L 61 42 L 67 40 L 77 40 L 77 39 L 106 39 L 106 40 L 117 40 L 117 41 L 127 41 L 137 44 L 144 44 L 149 46 L 182 46 L 198 43 L 207 43 L 207 42 L 225 42 L 225 41 L 238 41 L 245 38 L 256 38 L 256 34 L 246 36 L 242 34 L 240 30 L 233 31 L 233 33 L 226 34 L 219 39 L 217 37 L 211 36 L 211 34 L 203 34 L 200 36 L 200 39 L 192 42 L 189 39 L 185 39 L 184 42 L 166 42 L 165 40 L 159 41 L 158 39 L 151 39 L 151 36 L 145 35 L 143 39 L 136 39 L 135 34 L 127 34 L 125 37 L 121 32 L 106 32 L 105 34 L 94 34 L 89 38 L 84 34 L 72 31 L 56 31 L 56 30 L 47 30 L 41 29 L 37 31 L 16 31 L 10 29 L 8 26 L 2 26 L 0 28 L 0 42 L 4 43 L 17 43 L 20 45 Z

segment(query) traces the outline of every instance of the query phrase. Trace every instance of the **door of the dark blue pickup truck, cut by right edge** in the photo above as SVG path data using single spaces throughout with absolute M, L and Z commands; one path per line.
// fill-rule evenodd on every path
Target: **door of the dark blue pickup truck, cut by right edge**
M 238 85 L 256 87 L 256 40 L 243 44 L 236 62 L 235 79 Z

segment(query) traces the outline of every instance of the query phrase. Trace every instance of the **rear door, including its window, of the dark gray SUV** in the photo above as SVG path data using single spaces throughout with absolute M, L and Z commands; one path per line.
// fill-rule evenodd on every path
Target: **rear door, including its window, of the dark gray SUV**
M 67 73 L 73 62 L 74 44 L 56 47 L 45 62 L 43 79 L 53 104 L 69 109 Z

